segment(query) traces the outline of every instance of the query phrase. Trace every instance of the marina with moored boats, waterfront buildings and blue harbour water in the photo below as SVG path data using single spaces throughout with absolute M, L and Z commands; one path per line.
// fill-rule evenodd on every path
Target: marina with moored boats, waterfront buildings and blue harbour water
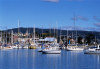
M 86 37 L 79 39 L 68 31 L 64 38 L 57 32 L 51 34 L 42 32 L 40 36 L 35 27 L 31 35 L 1 31 L 0 69 L 100 69 L 96 38 L 89 43 Z

